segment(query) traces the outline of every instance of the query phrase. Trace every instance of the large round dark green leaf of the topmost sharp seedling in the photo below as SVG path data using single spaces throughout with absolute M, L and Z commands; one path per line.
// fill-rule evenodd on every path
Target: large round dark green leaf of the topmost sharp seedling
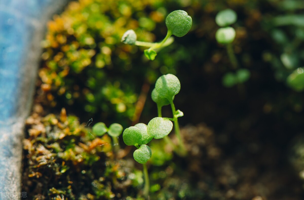
M 189 32 L 192 18 L 183 10 L 175 10 L 167 16 L 166 26 L 172 35 L 182 37 Z

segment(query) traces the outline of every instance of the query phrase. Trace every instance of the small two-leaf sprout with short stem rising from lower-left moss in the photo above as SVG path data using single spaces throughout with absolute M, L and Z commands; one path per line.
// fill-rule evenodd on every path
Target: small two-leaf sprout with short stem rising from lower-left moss
M 105 126 L 105 123 L 98 122 L 93 126 L 92 132 L 96 136 L 103 136 L 108 132 L 109 136 L 112 137 L 114 150 L 115 152 L 118 152 L 120 147 L 117 137 L 123 132 L 123 126 L 118 123 L 113 123 L 109 126 L 109 128 L 107 128 L 107 126 Z

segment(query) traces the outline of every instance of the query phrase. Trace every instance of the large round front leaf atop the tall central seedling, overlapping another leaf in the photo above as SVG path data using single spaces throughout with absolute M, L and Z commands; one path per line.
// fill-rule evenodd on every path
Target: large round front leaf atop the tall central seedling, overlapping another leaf
M 173 74 L 162 75 L 155 83 L 155 89 L 159 97 L 165 97 L 170 101 L 181 89 L 181 83 Z

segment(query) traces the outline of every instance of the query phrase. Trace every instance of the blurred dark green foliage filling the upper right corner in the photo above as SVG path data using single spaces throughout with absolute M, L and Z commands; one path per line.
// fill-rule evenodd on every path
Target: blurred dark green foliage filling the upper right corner
M 285 81 L 295 91 L 304 90 L 300 67 L 304 64 L 304 5 L 298 0 L 269 0 L 279 12 L 264 16 L 262 23 L 274 45 L 263 53 L 278 81 Z

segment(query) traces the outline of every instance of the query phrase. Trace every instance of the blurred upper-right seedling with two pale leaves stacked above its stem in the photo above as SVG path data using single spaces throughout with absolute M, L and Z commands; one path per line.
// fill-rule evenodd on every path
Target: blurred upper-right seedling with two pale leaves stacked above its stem
M 231 9 L 222 10 L 216 15 L 215 21 L 218 26 L 223 27 L 216 31 L 216 41 L 226 46 L 230 62 L 233 68 L 237 69 L 238 62 L 232 47 L 232 42 L 235 39 L 235 30 L 230 27 L 231 24 L 237 21 L 237 13 Z

